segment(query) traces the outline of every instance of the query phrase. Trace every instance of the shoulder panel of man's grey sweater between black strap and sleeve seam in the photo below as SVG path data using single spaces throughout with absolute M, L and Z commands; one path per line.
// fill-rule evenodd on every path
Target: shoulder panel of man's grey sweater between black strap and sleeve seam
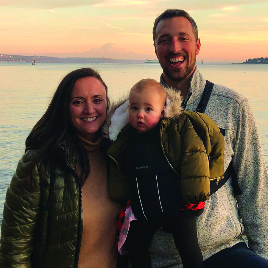
M 217 97 L 223 102 L 232 102 L 237 105 L 240 105 L 246 99 L 241 93 L 219 84 L 214 84 L 211 96 Z

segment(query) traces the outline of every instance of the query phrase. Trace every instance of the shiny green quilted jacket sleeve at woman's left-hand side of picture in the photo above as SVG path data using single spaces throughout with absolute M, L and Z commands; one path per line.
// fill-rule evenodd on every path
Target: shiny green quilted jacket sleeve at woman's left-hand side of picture
M 30 151 L 23 155 L 7 189 L 1 226 L 0 267 L 32 267 L 33 241 L 40 212 L 37 167 L 33 171 L 33 183 L 28 185 L 27 180 L 32 159 Z

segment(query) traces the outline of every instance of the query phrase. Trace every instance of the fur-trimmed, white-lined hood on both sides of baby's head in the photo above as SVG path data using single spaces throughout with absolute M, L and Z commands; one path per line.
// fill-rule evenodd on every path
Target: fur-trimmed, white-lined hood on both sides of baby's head
M 166 108 L 164 118 L 176 119 L 182 112 L 181 107 L 183 97 L 180 91 L 173 88 L 165 88 L 166 91 Z M 103 135 L 111 141 L 115 141 L 122 128 L 129 123 L 128 118 L 128 98 L 125 96 L 118 101 L 112 102 L 107 112 L 106 123 L 103 126 Z

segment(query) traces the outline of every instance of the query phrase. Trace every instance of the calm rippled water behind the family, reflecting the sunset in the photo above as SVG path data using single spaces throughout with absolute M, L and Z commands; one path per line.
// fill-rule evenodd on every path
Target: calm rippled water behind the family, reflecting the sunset
M 27 135 L 64 75 L 83 67 L 100 72 L 111 99 L 143 78 L 159 80 L 162 73 L 158 64 L 0 63 L 0 224 L 6 190 Z M 249 100 L 268 167 L 268 65 L 204 64 L 198 68 L 205 79 L 239 91 Z

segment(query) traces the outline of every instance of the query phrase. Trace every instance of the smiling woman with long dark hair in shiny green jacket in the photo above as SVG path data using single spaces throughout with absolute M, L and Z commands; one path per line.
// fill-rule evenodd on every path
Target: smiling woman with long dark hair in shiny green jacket
M 108 106 L 96 71 L 60 82 L 7 190 L 0 267 L 116 267 L 120 206 L 108 195 L 100 137 Z

